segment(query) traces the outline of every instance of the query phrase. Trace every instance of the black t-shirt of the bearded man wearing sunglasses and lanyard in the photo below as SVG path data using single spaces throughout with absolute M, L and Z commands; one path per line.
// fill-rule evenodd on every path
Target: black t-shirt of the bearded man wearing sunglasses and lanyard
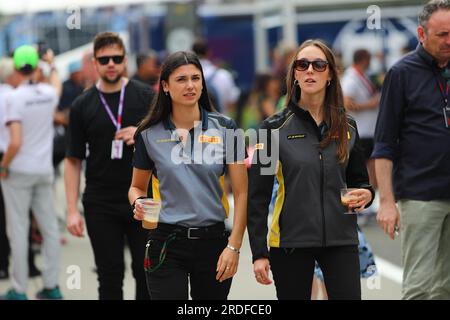
M 120 91 L 103 93 L 117 120 Z M 130 80 L 125 87 L 122 128 L 137 126 L 147 114 L 154 91 Z M 123 144 L 122 159 L 111 159 L 111 143 L 116 127 L 93 86 L 73 103 L 67 131 L 66 156 L 86 159 L 86 189 L 89 203 L 128 202 L 132 176 L 133 146 Z

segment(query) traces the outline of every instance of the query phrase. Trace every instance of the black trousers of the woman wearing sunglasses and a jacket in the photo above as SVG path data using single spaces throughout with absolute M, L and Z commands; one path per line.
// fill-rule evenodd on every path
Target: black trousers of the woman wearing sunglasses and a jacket
M 280 300 L 310 300 L 315 261 L 322 269 L 328 298 L 360 300 L 358 246 L 271 248 L 270 264 Z

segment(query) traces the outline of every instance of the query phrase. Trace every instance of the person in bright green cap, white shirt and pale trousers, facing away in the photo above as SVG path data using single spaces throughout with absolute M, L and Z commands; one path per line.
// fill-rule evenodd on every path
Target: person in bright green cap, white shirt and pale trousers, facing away
M 0 178 L 6 207 L 6 224 L 13 260 L 12 288 L 1 299 L 27 299 L 29 210 L 43 236 L 44 288 L 38 299 L 62 299 L 59 281 L 59 231 L 53 206 L 53 113 L 58 103 L 54 87 L 40 78 L 35 48 L 14 51 L 19 87 L 6 98 L 4 122 L 9 144 L 1 161 Z M 54 72 L 54 70 L 50 70 Z

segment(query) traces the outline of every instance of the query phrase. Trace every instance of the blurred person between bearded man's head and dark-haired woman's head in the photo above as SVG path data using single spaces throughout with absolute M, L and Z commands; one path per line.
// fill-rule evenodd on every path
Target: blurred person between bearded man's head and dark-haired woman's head
M 138 54 L 136 56 L 136 68 L 136 74 L 131 79 L 141 81 L 151 86 L 157 92 L 159 90 L 158 80 L 161 72 L 157 53 L 150 50 L 147 53 Z

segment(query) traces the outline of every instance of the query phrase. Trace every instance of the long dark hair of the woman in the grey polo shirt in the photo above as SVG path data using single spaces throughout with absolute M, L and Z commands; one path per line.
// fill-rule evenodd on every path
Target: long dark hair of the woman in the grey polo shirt
M 161 76 L 159 78 L 159 92 L 153 99 L 149 113 L 139 124 L 135 136 L 142 130 L 160 122 L 170 115 L 172 112 L 172 99 L 170 98 L 170 95 L 166 95 L 164 93 L 164 90 L 162 89 L 162 81 L 169 82 L 169 76 L 175 71 L 175 69 L 188 64 L 193 64 L 196 66 L 202 74 L 203 90 L 200 95 L 200 100 L 198 101 L 199 105 L 207 111 L 215 111 L 209 99 L 208 88 L 206 87 L 202 65 L 200 64 L 197 55 L 192 52 L 178 51 L 172 53 L 166 58 L 166 60 L 164 60 L 161 68 Z

